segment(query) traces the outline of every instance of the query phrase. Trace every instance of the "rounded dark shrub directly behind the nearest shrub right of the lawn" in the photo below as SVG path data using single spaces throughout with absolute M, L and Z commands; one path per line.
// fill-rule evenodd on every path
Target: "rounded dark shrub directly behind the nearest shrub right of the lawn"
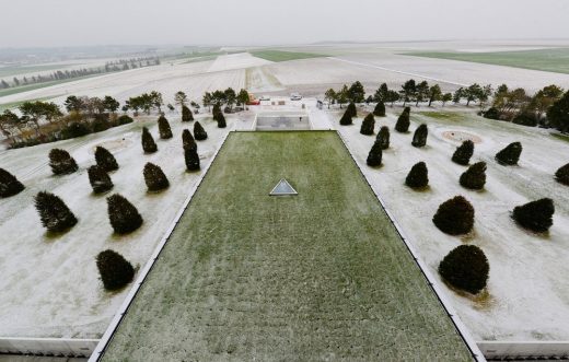
M 432 222 L 450 235 L 469 233 L 474 226 L 474 208 L 464 197 L 455 196 L 441 203 Z

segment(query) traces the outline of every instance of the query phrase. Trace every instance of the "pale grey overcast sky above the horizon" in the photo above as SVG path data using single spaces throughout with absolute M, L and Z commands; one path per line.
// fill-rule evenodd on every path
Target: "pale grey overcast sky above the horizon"
M 567 0 L 0 0 L 0 47 L 569 37 Z

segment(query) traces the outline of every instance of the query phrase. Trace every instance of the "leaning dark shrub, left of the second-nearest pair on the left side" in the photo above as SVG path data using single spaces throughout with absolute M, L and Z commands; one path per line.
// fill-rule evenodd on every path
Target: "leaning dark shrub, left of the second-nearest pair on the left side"
M 77 224 L 73 212 L 54 194 L 38 192 L 35 197 L 35 207 L 39 213 L 42 225 L 50 232 L 59 233 Z

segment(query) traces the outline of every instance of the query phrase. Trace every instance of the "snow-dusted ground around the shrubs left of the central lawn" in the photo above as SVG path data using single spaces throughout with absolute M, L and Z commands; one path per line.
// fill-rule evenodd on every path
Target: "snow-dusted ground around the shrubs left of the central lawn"
M 193 129 L 194 124 L 166 115 L 174 138 L 160 140 L 156 117 L 74 140 L 0 152 L 0 165 L 26 186 L 23 192 L 0 200 L 0 336 L 97 338 L 105 330 L 128 288 L 117 293 L 104 291 L 96 255 L 111 248 L 132 265 L 143 266 L 200 175 L 185 171 L 182 151 L 182 129 Z M 197 117 L 209 135 L 198 142 L 202 165 L 211 162 L 220 140 L 234 127 L 236 120 L 227 118 L 228 128 L 218 129 L 208 116 Z M 159 152 L 143 154 L 142 126 L 150 128 Z M 113 235 L 105 196 L 92 194 L 86 168 L 94 164 L 97 144 L 108 147 L 120 166 L 111 174 L 115 186 L 106 196 L 121 194 L 144 219 L 132 234 Z M 71 153 L 78 172 L 51 174 L 47 154 L 56 147 Z M 142 177 L 147 162 L 162 167 L 171 183 L 169 189 L 147 192 Z M 40 190 L 58 195 L 78 217 L 79 223 L 68 233 L 46 235 L 33 205 Z

